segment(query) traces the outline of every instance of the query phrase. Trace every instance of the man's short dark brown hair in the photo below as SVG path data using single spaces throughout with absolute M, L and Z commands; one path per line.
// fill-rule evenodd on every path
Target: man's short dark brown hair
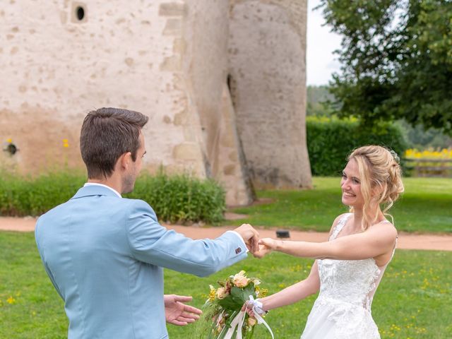
M 106 179 L 121 155 L 130 152 L 132 160 L 140 148 L 140 131 L 148 122 L 140 112 L 120 108 L 100 108 L 83 120 L 80 150 L 89 179 Z

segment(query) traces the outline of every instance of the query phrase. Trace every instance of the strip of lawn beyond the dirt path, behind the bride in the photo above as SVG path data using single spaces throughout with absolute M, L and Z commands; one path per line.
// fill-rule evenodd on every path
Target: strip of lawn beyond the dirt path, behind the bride
M 339 178 L 314 177 L 314 189 L 258 191 L 271 203 L 234 208 L 248 215 L 227 220 L 227 225 L 250 223 L 263 227 L 328 231 L 334 218 L 347 208 L 340 202 Z M 405 178 L 405 193 L 390 213 L 396 227 L 405 232 L 452 232 L 452 179 Z

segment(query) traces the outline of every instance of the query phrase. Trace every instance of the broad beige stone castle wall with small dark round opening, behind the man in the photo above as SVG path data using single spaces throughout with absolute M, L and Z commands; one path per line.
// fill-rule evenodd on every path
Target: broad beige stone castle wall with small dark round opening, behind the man
M 225 185 L 228 203 L 249 203 L 248 157 L 255 180 L 259 170 L 240 125 L 256 121 L 244 119 L 246 110 L 238 114 L 227 85 L 237 62 L 228 53 L 230 14 L 237 11 L 231 6 L 228 0 L 1 3 L 0 141 L 11 138 L 19 149 L 13 156 L 0 152 L 1 165 L 20 172 L 83 167 L 78 136 L 85 113 L 123 107 L 150 117 L 143 133 L 151 171 L 163 165 L 212 176 Z M 294 141 L 306 148 L 302 138 Z

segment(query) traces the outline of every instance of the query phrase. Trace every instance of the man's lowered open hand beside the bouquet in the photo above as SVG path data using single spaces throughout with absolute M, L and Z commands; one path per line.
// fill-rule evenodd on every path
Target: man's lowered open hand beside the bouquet
M 199 314 L 203 312 L 182 302 L 191 302 L 191 297 L 183 295 L 164 295 L 165 301 L 165 319 L 167 323 L 177 326 L 186 326 L 199 319 Z

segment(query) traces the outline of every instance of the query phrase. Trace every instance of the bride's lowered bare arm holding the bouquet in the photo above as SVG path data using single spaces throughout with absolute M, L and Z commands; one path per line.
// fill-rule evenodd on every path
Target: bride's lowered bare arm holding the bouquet
M 319 268 L 317 266 L 317 261 L 315 261 L 314 265 L 312 265 L 311 273 L 309 273 L 306 279 L 286 287 L 284 290 L 281 290 L 274 295 L 259 299 L 259 301 L 262 302 L 263 311 L 268 311 L 270 309 L 276 309 L 277 307 L 294 304 L 301 299 L 309 297 L 309 295 L 314 295 L 314 293 L 319 291 L 319 288 Z

